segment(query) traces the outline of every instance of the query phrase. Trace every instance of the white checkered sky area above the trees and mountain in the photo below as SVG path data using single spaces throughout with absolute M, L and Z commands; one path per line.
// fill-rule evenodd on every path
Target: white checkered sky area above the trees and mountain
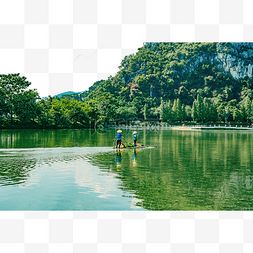
M 145 42 L 236 42 L 246 39 L 244 33 L 251 36 L 242 24 L 252 24 L 250 0 L 244 1 L 244 17 L 240 1 L 231 5 L 233 12 L 218 0 L 74 2 L 0 1 L 1 73 L 21 73 L 41 97 L 80 92 L 114 76 L 123 57 Z

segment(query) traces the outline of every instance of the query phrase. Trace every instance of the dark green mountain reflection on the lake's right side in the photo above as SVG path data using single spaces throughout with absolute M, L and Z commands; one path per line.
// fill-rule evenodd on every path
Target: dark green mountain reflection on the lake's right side
M 118 154 L 116 166 L 110 155 L 92 162 L 110 164 L 147 210 L 253 210 L 251 133 L 161 131 L 152 143 L 121 153 L 120 170 Z

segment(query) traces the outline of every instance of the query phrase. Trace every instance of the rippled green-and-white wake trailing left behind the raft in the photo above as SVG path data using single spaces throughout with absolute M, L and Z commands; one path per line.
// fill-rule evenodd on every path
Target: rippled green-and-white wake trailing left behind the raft
M 85 148 L 84 154 L 81 148 L 0 149 L 0 186 L 22 184 L 29 179 L 31 170 L 42 165 L 89 159 L 89 153 L 101 150 Z

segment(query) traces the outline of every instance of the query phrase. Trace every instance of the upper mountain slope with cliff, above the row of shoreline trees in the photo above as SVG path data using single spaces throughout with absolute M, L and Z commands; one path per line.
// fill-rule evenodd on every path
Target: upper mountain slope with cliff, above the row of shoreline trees
M 252 59 L 252 43 L 146 43 L 126 56 L 118 73 L 95 92 L 107 91 L 128 102 L 162 97 L 190 105 L 198 94 L 240 100 L 245 83 L 246 88 L 252 85 Z

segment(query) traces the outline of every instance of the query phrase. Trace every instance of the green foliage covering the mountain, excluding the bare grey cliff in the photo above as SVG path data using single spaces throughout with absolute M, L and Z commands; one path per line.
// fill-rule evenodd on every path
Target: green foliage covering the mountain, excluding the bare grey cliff
M 229 54 L 236 48 L 234 44 L 145 43 L 136 54 L 126 56 L 118 73 L 101 82 L 86 101 L 94 96 L 92 93 L 98 95 L 103 91 L 115 98 L 116 116 L 119 117 L 131 115 L 126 113 L 126 108 L 119 109 L 128 106 L 136 108 L 137 114 L 132 114 L 133 117 L 143 119 L 148 118 L 148 112 L 149 117 L 158 117 L 162 121 L 184 118 L 197 122 L 224 120 L 226 104 L 232 100 L 239 102 L 246 96 L 253 98 L 252 80 L 234 79 L 217 61 L 217 55 Z M 205 97 L 208 100 L 204 106 Z M 160 98 L 163 101 L 179 99 L 184 109 L 179 106 L 173 111 L 171 108 L 172 113 L 168 116 L 167 110 L 170 109 L 166 103 L 161 104 Z M 147 102 L 147 99 L 150 100 Z M 189 107 L 193 107 L 193 118 Z M 233 110 L 229 110 L 231 116 Z

